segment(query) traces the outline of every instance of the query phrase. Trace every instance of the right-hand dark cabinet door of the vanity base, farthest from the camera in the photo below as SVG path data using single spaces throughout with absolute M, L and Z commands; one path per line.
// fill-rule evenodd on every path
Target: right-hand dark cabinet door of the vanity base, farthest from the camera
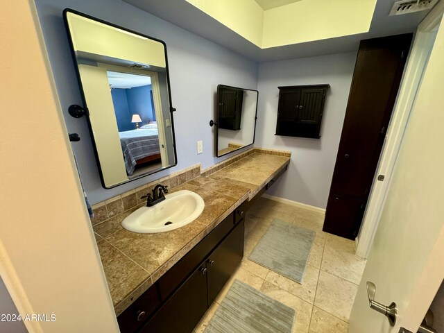
M 244 257 L 244 220 L 232 230 L 207 259 L 208 305 L 216 299 Z

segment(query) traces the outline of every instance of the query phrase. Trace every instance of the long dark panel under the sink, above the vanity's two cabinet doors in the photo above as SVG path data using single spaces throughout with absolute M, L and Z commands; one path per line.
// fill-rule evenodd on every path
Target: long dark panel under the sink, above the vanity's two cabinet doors
M 219 244 L 234 227 L 233 214 L 224 219 L 210 234 L 179 260 L 160 278 L 160 298 L 168 296 L 196 269 L 200 262 Z

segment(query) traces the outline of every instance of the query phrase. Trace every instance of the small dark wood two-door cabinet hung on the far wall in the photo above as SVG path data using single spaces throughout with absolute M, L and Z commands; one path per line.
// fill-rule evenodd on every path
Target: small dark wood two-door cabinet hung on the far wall
M 319 139 L 325 94 L 330 85 L 279 88 L 276 135 Z

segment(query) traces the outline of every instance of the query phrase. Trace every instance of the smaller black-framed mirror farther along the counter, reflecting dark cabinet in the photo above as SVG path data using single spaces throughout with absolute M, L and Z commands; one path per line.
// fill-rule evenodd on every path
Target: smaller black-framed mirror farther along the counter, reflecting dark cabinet
M 217 157 L 255 142 L 258 97 L 257 90 L 217 86 Z

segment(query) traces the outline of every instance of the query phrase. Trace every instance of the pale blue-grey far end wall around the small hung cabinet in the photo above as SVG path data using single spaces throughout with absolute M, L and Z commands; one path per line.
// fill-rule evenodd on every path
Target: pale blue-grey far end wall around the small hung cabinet
M 291 151 L 291 164 L 268 194 L 325 208 L 357 53 L 259 64 L 257 146 Z M 275 135 L 280 86 L 329 83 L 321 139 Z

